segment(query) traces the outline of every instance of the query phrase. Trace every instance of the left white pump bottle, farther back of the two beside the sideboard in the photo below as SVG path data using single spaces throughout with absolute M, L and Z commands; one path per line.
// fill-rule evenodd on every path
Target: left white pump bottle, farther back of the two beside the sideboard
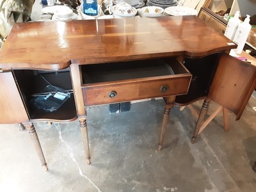
M 240 23 L 241 23 L 241 20 L 239 19 L 239 11 L 237 11 L 234 17 L 231 17 L 228 20 L 227 28 L 224 35 L 227 36 L 227 38 L 229 38 L 230 40 L 233 40 L 236 30 L 238 28 L 238 25 Z

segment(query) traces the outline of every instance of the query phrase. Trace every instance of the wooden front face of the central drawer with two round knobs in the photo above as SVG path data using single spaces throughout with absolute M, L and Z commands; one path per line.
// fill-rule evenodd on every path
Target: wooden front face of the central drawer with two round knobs
M 152 81 L 137 81 L 103 86 L 84 86 L 83 97 L 86 106 L 109 104 L 154 97 L 182 95 L 188 92 L 191 75 L 170 77 Z

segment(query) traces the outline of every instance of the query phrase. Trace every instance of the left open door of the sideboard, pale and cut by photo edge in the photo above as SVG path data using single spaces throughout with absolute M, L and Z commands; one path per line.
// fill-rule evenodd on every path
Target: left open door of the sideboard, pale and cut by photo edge
M 0 73 L 0 124 L 29 120 L 12 72 Z

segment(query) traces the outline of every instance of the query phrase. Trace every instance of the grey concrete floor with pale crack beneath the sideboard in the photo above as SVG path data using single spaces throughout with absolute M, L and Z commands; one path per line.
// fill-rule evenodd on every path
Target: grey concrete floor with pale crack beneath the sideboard
M 190 142 L 195 117 L 175 106 L 161 151 L 163 100 L 137 102 L 115 114 L 109 114 L 108 105 L 90 107 L 90 165 L 78 121 L 36 123 L 48 172 L 26 131 L 0 125 L 0 191 L 255 191 L 255 106 L 251 97 L 239 121 L 228 113 L 228 132 L 218 114 L 195 144 Z M 209 114 L 217 107 L 212 102 Z

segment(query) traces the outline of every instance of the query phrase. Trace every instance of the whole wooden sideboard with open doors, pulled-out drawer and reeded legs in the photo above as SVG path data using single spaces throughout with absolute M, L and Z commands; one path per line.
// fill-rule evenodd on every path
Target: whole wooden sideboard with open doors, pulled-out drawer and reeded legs
M 90 163 L 86 106 L 163 97 L 161 149 L 175 104 L 205 99 L 203 119 L 214 100 L 239 119 L 256 72 L 225 53 L 235 47 L 195 16 L 14 24 L 0 52 L 0 123 L 24 124 L 47 169 L 33 122 L 79 118 Z M 70 98 L 46 112 L 31 100 L 49 84 Z

